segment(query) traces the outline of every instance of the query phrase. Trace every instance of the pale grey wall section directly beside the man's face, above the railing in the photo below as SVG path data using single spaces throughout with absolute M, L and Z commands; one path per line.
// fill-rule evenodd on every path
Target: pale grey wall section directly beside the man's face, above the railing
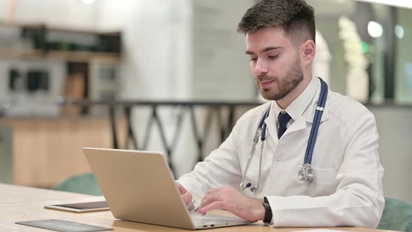
M 237 24 L 253 0 L 193 0 L 193 84 L 195 99 L 252 100 L 256 87 L 244 35 Z

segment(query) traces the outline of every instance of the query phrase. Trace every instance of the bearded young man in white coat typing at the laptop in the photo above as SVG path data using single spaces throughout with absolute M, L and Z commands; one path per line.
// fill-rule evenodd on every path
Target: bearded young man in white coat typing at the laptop
M 376 122 L 360 103 L 330 90 L 325 107 L 317 108 L 314 9 L 303 0 L 263 0 L 247 10 L 238 31 L 246 34 L 251 71 L 270 102 L 245 113 L 227 140 L 177 181 L 186 205 L 272 226 L 376 228 L 384 207 Z M 265 144 L 259 139 L 247 168 L 268 109 Z M 311 160 L 314 180 L 305 184 L 297 175 L 316 110 L 323 115 Z

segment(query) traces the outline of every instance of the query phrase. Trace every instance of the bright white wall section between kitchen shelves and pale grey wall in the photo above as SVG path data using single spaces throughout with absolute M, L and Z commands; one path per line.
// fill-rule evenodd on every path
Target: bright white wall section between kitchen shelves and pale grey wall
M 98 28 L 120 29 L 124 98 L 189 97 L 190 1 L 98 1 Z

